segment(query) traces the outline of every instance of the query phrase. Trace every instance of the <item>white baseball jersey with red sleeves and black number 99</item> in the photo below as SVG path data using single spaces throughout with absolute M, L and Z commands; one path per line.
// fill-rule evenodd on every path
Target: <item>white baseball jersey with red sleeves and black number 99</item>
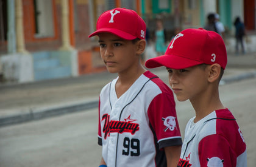
M 101 90 L 98 143 L 107 166 L 166 166 L 166 146 L 182 145 L 171 89 L 143 73 L 121 97 L 118 78 Z

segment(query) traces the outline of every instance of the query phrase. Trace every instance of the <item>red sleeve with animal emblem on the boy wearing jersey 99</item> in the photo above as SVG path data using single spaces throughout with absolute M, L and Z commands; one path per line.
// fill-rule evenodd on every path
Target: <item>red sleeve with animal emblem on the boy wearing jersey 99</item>
M 166 146 L 182 145 L 172 94 L 157 95 L 149 105 L 148 116 L 160 149 Z

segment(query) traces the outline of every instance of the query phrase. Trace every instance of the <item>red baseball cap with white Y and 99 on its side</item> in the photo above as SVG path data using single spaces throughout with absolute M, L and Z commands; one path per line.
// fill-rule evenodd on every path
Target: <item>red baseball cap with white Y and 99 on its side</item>
M 88 36 L 89 38 L 104 32 L 127 40 L 145 39 L 146 35 L 146 24 L 143 19 L 134 10 L 125 8 L 116 8 L 102 13 L 96 29 L 96 32 Z

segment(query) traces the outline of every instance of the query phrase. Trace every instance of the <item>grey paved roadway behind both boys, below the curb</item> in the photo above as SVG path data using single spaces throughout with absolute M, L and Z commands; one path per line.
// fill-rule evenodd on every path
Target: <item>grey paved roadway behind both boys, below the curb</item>
M 256 78 L 224 84 L 221 100 L 235 115 L 247 143 L 248 166 L 256 166 Z M 189 101 L 177 102 L 182 134 L 194 112 Z M 66 114 L 0 128 L 1 167 L 98 166 L 98 110 Z

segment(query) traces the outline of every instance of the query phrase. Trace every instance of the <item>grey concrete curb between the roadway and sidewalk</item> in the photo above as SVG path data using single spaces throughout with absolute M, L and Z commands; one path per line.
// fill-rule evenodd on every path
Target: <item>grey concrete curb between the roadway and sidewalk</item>
M 256 70 L 252 72 L 241 73 L 232 77 L 222 78 L 220 85 L 230 84 L 236 81 L 256 78 Z M 0 127 L 9 126 L 12 124 L 24 123 L 27 121 L 40 120 L 43 118 L 54 117 L 63 114 L 85 111 L 98 107 L 98 100 L 89 101 L 87 103 L 71 104 L 69 106 L 55 107 L 51 109 L 44 109 L 41 111 L 34 111 L 30 109 L 26 114 L 16 114 L 6 117 L 0 117 Z

